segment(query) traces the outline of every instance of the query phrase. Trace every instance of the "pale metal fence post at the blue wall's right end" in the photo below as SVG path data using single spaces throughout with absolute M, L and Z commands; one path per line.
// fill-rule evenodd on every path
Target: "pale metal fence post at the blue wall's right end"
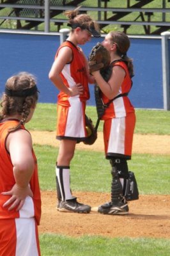
M 164 95 L 164 109 L 170 110 L 170 84 L 169 84 L 169 47 L 168 38 L 169 32 L 161 33 L 162 36 L 162 77 L 163 77 L 163 95 Z

